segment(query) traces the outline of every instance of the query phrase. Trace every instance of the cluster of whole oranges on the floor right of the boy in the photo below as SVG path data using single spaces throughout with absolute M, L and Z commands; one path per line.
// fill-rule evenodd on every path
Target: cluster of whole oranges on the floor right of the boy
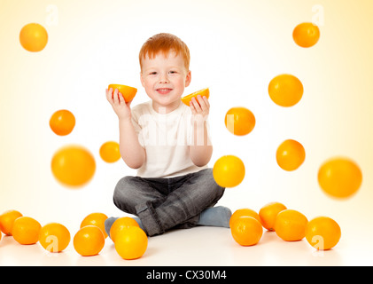
M 284 241 L 307 242 L 316 249 L 327 250 L 335 247 L 341 236 L 338 223 L 330 217 L 307 217 L 297 210 L 287 209 L 280 202 L 263 206 L 259 214 L 253 209 L 238 209 L 229 221 L 232 237 L 241 246 L 256 245 L 263 234 L 262 227 L 276 232 Z

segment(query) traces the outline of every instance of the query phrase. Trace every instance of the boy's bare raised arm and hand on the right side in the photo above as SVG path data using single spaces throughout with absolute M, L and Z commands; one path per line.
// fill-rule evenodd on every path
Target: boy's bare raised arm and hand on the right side
M 205 166 L 210 162 L 213 154 L 213 146 L 208 138 L 207 132 L 207 116 L 210 109 L 210 104 L 206 97 L 198 96 L 196 99 L 191 99 L 190 109 L 193 114 L 193 144 L 190 146 L 190 159 L 198 167 Z

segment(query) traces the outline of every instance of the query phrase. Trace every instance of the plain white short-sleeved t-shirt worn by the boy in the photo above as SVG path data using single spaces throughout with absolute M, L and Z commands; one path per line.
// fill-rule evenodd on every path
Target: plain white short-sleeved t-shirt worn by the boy
M 150 100 L 134 106 L 131 113 L 139 143 L 146 151 L 146 161 L 137 176 L 177 177 L 207 168 L 196 166 L 190 159 L 194 141 L 190 107 L 181 102 L 171 113 L 162 114 L 153 109 Z

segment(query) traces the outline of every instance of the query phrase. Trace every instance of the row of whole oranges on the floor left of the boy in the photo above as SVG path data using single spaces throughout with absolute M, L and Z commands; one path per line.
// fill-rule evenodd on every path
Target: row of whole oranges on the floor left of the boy
M 74 249 L 81 256 L 96 256 L 105 246 L 104 213 L 91 213 L 84 217 L 80 230 L 74 235 Z M 52 253 L 63 251 L 71 241 L 71 235 L 65 225 L 50 223 L 40 225 L 32 217 L 24 217 L 17 210 L 8 210 L 0 215 L 0 240 L 2 233 L 12 236 L 21 245 L 33 245 L 37 242 Z M 110 231 L 115 249 L 124 259 L 136 259 L 144 255 L 148 246 L 148 237 L 135 219 L 121 217 Z

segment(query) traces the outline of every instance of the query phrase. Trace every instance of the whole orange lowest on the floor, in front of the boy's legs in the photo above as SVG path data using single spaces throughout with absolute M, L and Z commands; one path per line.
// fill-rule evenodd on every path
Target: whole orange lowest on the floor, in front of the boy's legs
M 148 237 L 142 229 L 130 226 L 115 236 L 115 250 L 124 259 L 136 259 L 144 255 L 148 247 Z

